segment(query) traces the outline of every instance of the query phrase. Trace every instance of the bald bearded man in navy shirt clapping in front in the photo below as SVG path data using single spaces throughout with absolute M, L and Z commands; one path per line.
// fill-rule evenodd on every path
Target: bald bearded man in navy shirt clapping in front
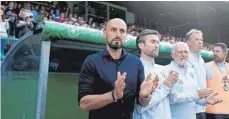
M 158 80 L 145 79 L 144 68 L 137 56 L 123 49 L 126 23 L 122 19 L 108 21 L 103 35 L 106 48 L 89 55 L 81 68 L 78 102 L 89 119 L 132 119 L 134 104 L 149 104 Z

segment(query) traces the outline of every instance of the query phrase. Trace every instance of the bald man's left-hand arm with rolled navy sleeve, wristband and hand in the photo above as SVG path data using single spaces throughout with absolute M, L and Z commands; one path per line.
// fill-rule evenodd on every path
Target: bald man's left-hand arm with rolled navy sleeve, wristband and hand
M 127 75 L 127 73 L 123 73 L 121 75 L 120 72 L 117 72 L 117 80 L 115 81 L 114 91 L 95 95 L 95 79 L 93 77 L 95 67 L 91 57 L 92 56 L 87 57 L 83 63 L 78 83 L 78 102 L 84 111 L 99 109 L 112 103 L 114 100 L 121 99 L 123 97 L 123 90 L 125 88 L 124 81 Z

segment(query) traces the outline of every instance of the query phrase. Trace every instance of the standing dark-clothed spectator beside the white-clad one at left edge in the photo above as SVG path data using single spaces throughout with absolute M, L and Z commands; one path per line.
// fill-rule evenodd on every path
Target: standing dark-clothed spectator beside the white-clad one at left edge
M 9 7 L 6 8 L 5 14 L 10 18 L 9 19 L 9 36 L 14 36 L 15 35 L 15 19 L 17 17 L 16 12 L 13 9 L 14 7 L 14 2 L 9 3 Z

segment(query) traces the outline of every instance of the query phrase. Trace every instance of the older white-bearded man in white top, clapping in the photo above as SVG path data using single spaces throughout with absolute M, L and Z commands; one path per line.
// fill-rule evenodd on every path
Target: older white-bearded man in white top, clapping
M 171 55 L 174 61 L 164 67 L 163 75 L 166 77 L 171 70 L 179 73 L 169 94 L 172 119 L 196 119 L 195 104 L 214 105 L 221 100 L 214 97 L 217 93 L 212 89 L 198 90 L 195 70 L 187 64 L 189 47 L 186 43 L 175 43 Z

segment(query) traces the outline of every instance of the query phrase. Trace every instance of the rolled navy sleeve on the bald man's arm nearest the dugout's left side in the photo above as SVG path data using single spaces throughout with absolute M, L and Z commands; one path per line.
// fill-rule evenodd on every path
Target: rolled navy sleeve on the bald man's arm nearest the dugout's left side
M 81 98 L 86 95 L 94 94 L 94 72 L 95 66 L 93 64 L 92 56 L 89 55 L 80 71 L 79 81 L 78 81 L 78 102 L 80 102 Z

